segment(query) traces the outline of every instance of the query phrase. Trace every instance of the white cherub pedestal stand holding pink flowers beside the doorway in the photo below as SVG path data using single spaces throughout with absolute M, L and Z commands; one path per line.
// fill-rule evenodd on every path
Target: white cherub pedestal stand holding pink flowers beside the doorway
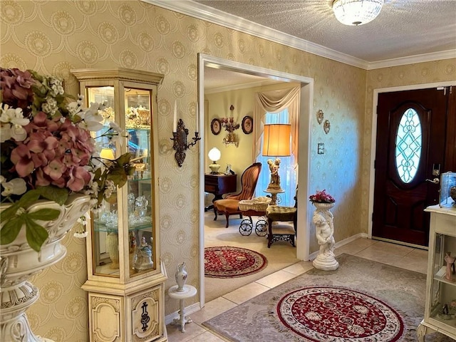
M 339 263 L 334 257 L 334 224 L 333 214 L 329 211 L 334 206 L 334 203 L 316 203 L 316 210 L 312 221 L 315 224 L 316 239 L 320 244 L 318 256 L 312 264 L 316 269 L 323 271 L 333 271 L 338 269 Z

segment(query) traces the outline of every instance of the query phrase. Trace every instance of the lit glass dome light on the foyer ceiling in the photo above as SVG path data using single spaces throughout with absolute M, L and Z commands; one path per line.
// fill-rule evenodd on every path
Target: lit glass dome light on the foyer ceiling
M 373 21 L 382 9 L 383 0 L 335 0 L 333 11 L 345 25 L 363 25 Z

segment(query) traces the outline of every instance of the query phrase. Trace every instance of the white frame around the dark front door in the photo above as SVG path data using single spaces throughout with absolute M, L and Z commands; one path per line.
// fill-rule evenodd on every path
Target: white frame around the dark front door
M 375 183 L 375 149 L 377 147 L 377 105 L 378 105 L 378 94 L 380 93 L 393 93 L 396 91 L 404 90 L 419 90 L 426 88 L 437 88 L 437 87 L 449 87 L 456 86 L 456 81 L 445 81 L 445 82 L 435 82 L 435 83 L 422 83 L 414 84 L 409 86 L 398 86 L 398 87 L 389 87 L 389 88 L 377 88 L 373 90 L 373 101 L 372 101 L 372 128 L 371 128 L 371 168 L 369 172 L 369 210 L 368 210 L 368 238 L 372 239 L 372 215 L 373 215 L 373 193 L 374 193 L 374 183 Z M 384 239 L 384 241 L 390 241 Z M 416 247 L 420 249 L 427 249 L 423 246 L 418 246 L 415 244 L 408 244 L 406 242 L 400 242 L 405 246 Z

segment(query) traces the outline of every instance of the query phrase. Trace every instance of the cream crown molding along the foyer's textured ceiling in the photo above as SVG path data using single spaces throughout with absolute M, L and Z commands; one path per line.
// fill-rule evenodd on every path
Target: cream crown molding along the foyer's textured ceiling
M 195 1 L 183 1 L 183 0 L 140 0 L 152 4 L 155 6 L 176 11 L 187 16 L 192 16 L 197 19 L 209 21 L 212 24 L 217 24 L 227 28 L 232 28 L 236 31 L 251 34 L 259 38 L 264 38 L 268 41 L 274 41 L 291 48 L 297 48 L 301 51 L 308 53 L 314 53 L 317 56 L 329 58 L 333 61 L 338 61 L 351 66 L 356 66 L 365 70 L 373 70 L 378 68 L 387 68 L 391 66 L 402 66 L 410 63 L 420 63 L 427 61 L 436 61 L 440 59 L 448 59 L 456 57 L 456 50 L 442 51 L 437 53 L 425 53 L 416 56 L 407 56 L 401 58 L 393 58 L 385 61 L 368 62 L 361 58 L 350 56 L 346 53 L 335 51 L 331 48 L 311 43 L 304 39 L 296 38 L 287 33 L 283 33 L 273 28 L 269 28 L 260 24 L 253 23 L 246 19 L 234 16 L 232 14 L 219 11 L 209 6 L 199 4 Z

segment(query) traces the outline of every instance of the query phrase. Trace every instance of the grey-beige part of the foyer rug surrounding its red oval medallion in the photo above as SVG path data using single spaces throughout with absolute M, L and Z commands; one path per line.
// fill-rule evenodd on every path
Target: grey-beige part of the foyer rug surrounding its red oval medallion
M 283 296 L 297 289 L 309 286 L 339 286 L 368 294 L 388 304 L 400 314 L 405 324 L 405 333 L 400 341 L 418 341 L 415 329 L 424 316 L 425 274 L 349 254 L 341 254 L 337 260 L 340 266 L 336 271 L 311 269 L 224 314 L 209 319 L 203 325 L 229 338 L 229 341 L 311 341 L 281 323 L 276 314 L 277 304 Z M 428 334 L 425 341 L 454 342 L 452 338 L 440 333 Z

